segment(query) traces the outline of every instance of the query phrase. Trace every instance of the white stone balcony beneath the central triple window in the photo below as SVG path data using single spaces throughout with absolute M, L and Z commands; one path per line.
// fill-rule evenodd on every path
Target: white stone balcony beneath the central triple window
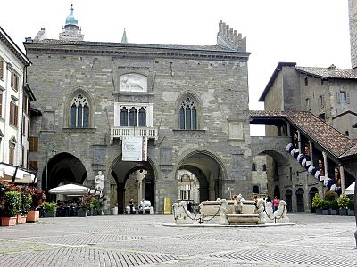
M 157 140 L 158 131 L 154 127 L 112 127 L 111 142 L 114 138 L 122 140 L 123 136 L 146 136 L 147 139 Z

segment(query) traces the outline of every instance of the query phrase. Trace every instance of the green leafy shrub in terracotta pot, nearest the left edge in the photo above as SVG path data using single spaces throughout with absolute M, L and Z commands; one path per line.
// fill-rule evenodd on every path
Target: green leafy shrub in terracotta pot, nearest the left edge
M 17 214 L 21 209 L 21 193 L 18 191 L 7 191 L 4 193 L 3 206 L 1 209 L 1 225 L 13 226 L 17 221 Z

